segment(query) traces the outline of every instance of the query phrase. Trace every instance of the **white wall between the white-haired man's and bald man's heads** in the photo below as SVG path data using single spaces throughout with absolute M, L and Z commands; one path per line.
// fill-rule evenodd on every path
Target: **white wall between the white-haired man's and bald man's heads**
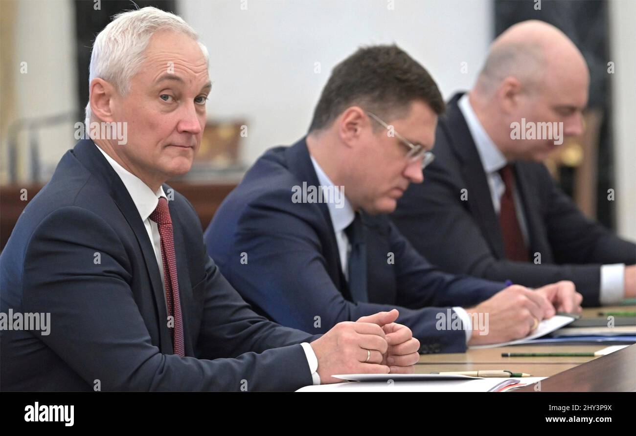
M 179 10 L 210 52 L 208 114 L 247 121 L 248 164 L 307 132 L 331 69 L 359 46 L 398 44 L 446 98 L 473 84 L 492 32 L 484 0 L 186 0 Z

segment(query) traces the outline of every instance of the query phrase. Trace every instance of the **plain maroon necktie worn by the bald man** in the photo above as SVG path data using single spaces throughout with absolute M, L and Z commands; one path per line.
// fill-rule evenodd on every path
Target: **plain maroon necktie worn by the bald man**
M 504 238 L 504 247 L 506 249 L 506 259 L 510 261 L 527 262 L 529 261 L 528 249 L 523 242 L 521 226 L 517 220 L 515 209 L 515 175 L 510 165 L 499 170 L 501 179 L 506 185 L 506 191 L 501 196 L 501 209 L 499 210 L 499 224 L 501 225 L 501 234 Z

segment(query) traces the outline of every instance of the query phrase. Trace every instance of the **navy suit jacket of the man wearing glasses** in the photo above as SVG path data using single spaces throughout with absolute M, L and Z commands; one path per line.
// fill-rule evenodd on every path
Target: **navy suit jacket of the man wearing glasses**
M 436 327 L 448 315 L 445 306 L 477 304 L 504 285 L 442 273 L 387 217 L 363 214 L 369 303 L 352 301 L 327 205 L 292 202 L 293 186 L 303 182 L 319 185 L 305 140 L 271 149 L 205 231 L 208 253 L 244 299 L 276 322 L 312 333 L 397 308 L 421 353 L 465 351 L 463 330 Z

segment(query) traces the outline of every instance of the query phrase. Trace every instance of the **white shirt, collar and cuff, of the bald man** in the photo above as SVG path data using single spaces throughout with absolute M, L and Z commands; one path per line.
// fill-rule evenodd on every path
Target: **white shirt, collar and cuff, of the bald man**
M 499 151 L 499 148 L 490 139 L 485 128 L 481 125 L 479 119 L 473 111 L 468 94 L 462 95 L 457 102 L 460 111 L 466 119 L 468 130 L 477 147 L 480 156 L 481 165 L 488 179 L 488 187 L 490 187 L 490 197 L 495 213 L 499 214 L 501 210 L 501 196 L 506 191 L 506 186 L 499 175 L 499 170 L 507 165 L 506 158 Z M 523 212 L 522 202 L 519 201 L 519 194 L 513 192 L 515 198 L 515 211 L 517 221 L 523 234 L 523 240 L 529 245 L 528 227 L 525 221 L 525 213 Z M 600 294 L 601 304 L 615 304 L 623 299 L 625 292 L 625 264 L 610 264 L 600 267 Z

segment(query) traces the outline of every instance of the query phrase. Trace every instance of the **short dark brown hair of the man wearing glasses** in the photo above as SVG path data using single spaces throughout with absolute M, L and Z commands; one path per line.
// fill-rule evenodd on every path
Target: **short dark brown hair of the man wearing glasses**
M 404 50 L 395 44 L 361 47 L 331 72 L 309 132 L 330 126 L 350 106 L 390 119 L 405 115 L 416 100 L 428 104 L 438 115 L 445 110 L 431 74 Z

